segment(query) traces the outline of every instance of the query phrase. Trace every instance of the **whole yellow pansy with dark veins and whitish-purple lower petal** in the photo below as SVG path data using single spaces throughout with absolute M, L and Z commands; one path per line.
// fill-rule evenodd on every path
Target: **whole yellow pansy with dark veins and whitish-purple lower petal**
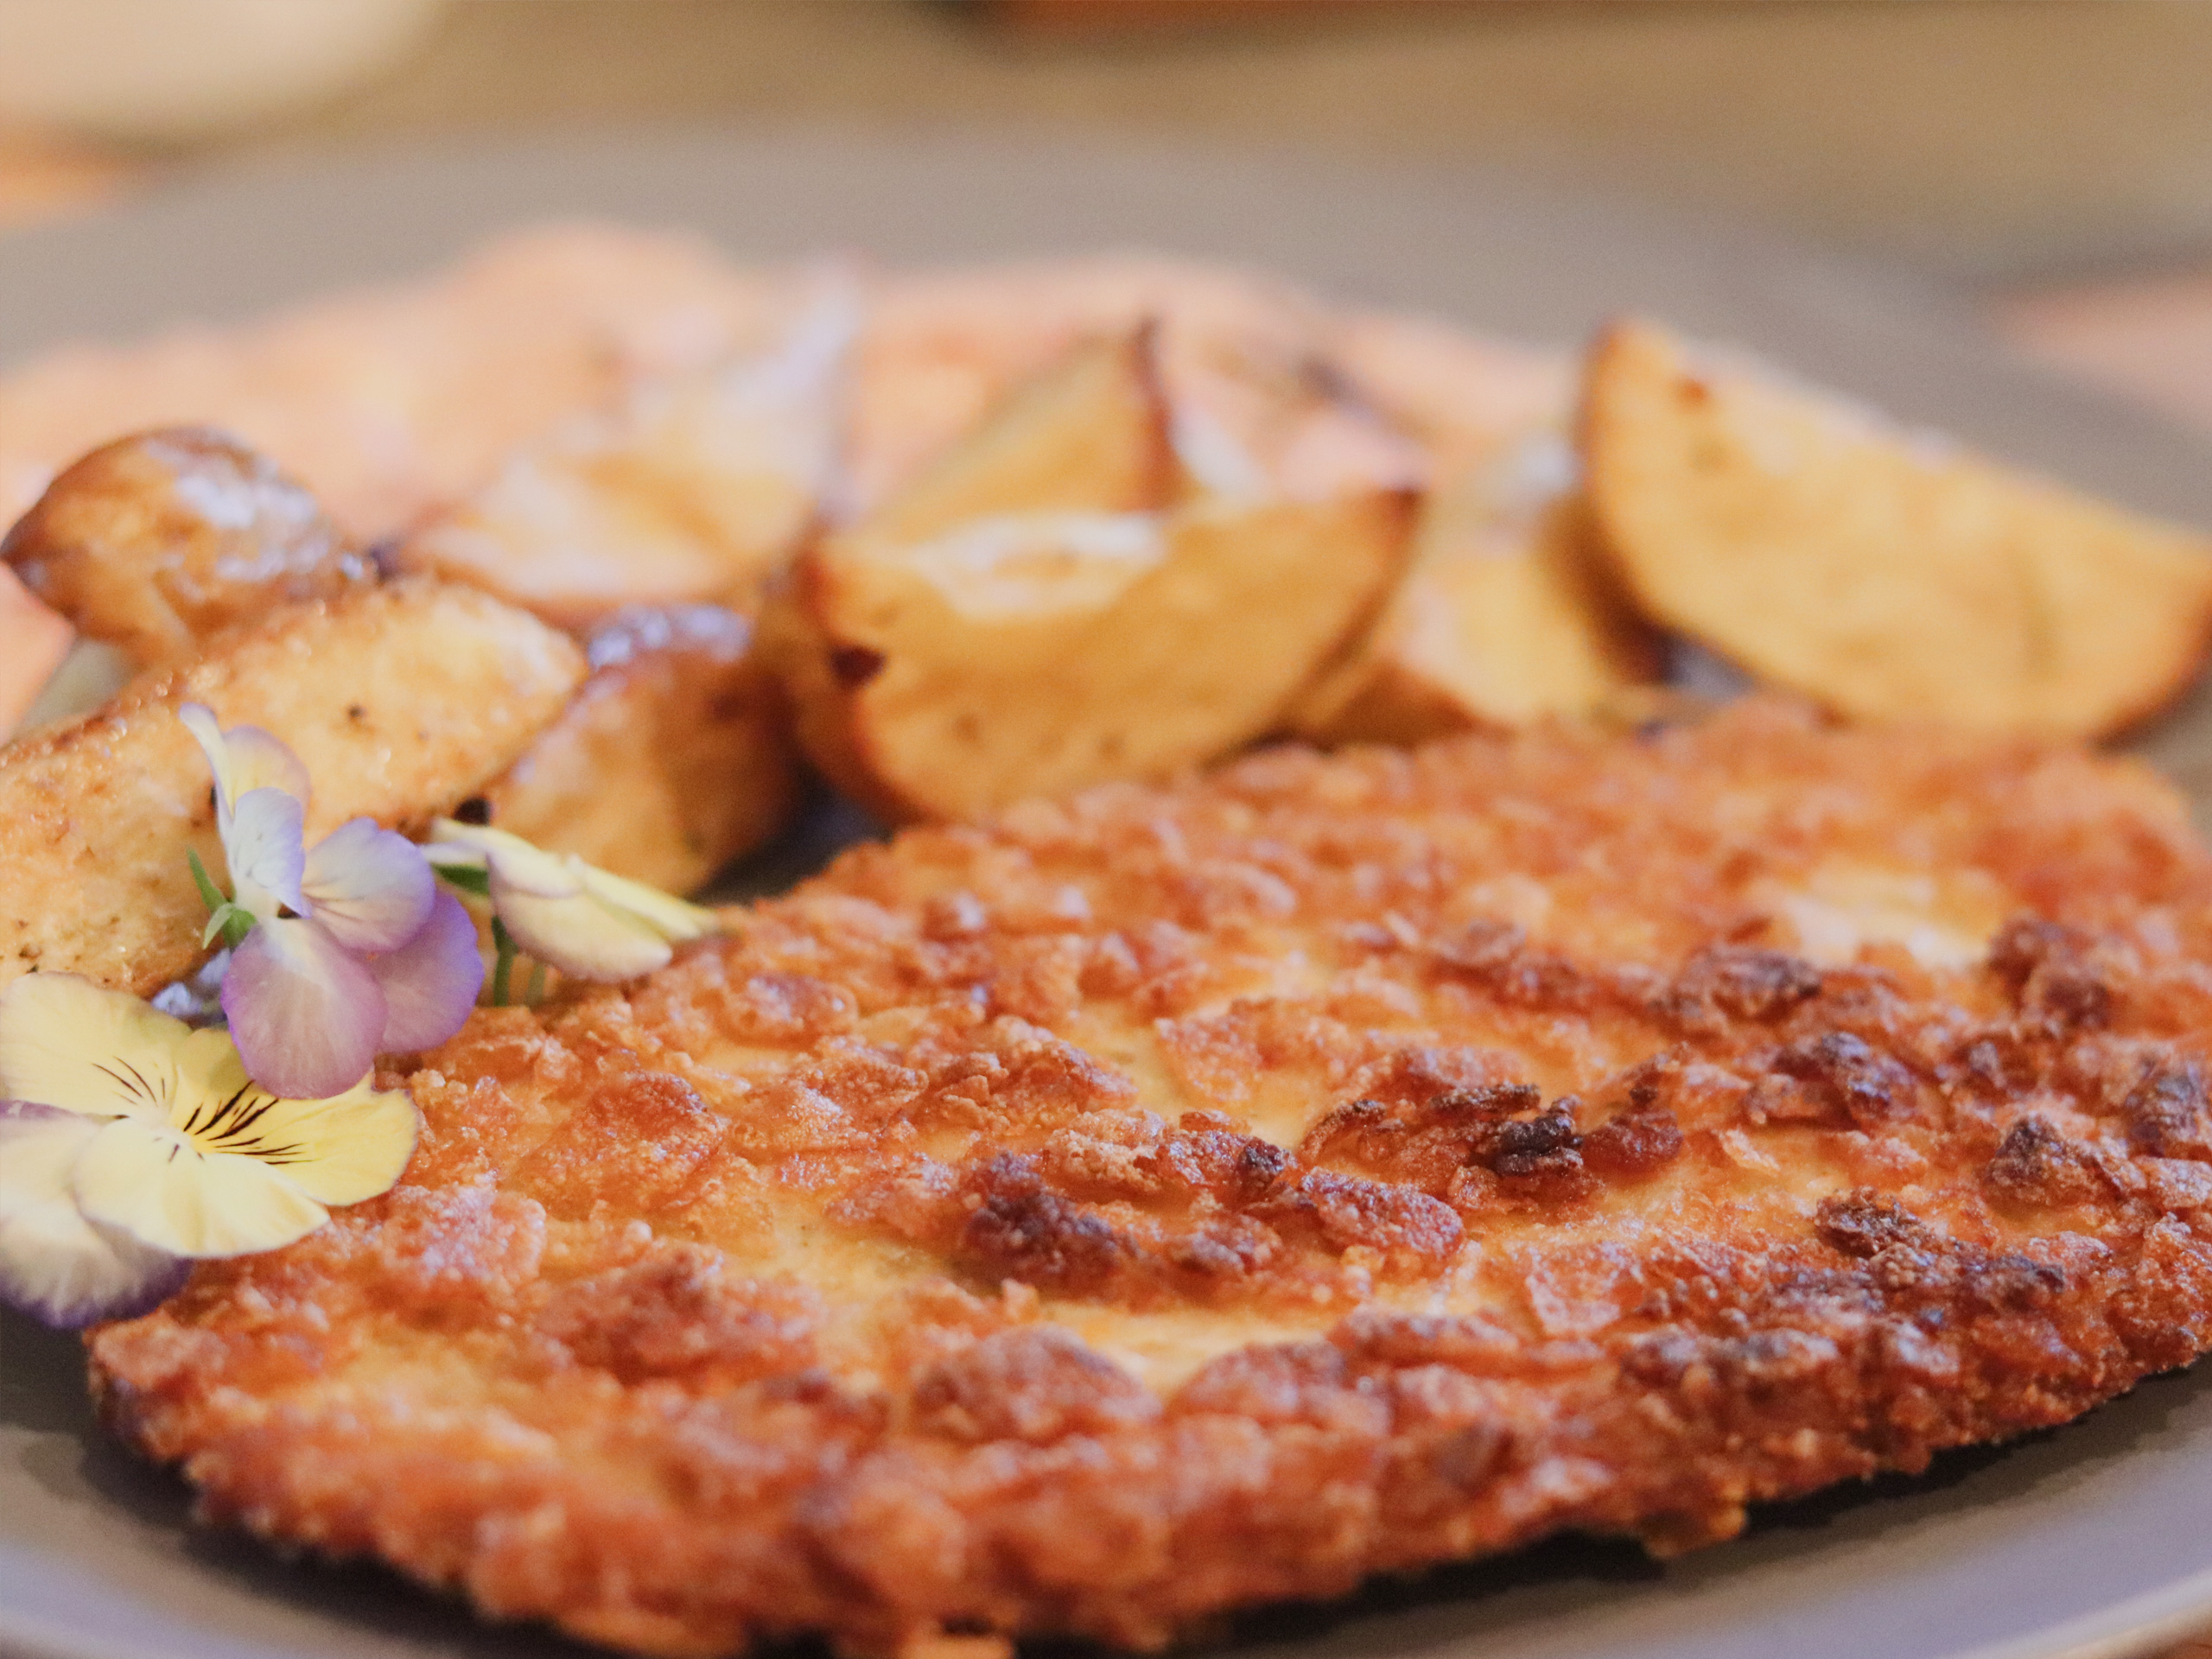
M 281 1099 L 221 1031 L 73 973 L 0 991 L 0 1301 L 58 1327 L 170 1296 L 192 1259 L 276 1250 L 392 1188 L 405 1093 Z

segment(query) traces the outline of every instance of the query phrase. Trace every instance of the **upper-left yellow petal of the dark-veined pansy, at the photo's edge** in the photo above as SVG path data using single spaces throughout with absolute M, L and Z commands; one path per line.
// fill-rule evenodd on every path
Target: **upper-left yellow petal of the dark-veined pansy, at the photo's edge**
M 86 1117 L 168 1117 L 184 1020 L 75 973 L 0 991 L 0 1097 Z

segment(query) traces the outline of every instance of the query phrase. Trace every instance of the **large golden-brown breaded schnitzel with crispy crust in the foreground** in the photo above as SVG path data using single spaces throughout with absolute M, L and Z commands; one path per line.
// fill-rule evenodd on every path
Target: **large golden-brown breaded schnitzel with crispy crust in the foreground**
M 1276 750 L 478 1013 L 398 1190 L 93 1367 L 210 1517 L 487 1615 L 1157 1646 L 2190 1360 L 2208 1031 L 2137 763 L 1756 701 Z

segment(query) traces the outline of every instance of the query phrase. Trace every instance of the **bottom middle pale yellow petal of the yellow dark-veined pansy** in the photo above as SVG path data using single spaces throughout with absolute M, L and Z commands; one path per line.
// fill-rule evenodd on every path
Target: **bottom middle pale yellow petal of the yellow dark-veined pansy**
M 250 1256 L 305 1239 L 330 1212 L 250 1157 L 204 1155 L 170 1128 L 119 1117 L 86 1144 L 77 1208 L 173 1256 Z

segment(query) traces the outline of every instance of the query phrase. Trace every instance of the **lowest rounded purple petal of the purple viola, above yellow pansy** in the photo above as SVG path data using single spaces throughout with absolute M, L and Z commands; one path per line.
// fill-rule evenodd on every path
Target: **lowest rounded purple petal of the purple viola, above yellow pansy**
M 230 956 L 223 1018 L 248 1075 L 283 1099 L 327 1099 L 367 1077 L 385 993 L 321 922 L 261 922 Z

